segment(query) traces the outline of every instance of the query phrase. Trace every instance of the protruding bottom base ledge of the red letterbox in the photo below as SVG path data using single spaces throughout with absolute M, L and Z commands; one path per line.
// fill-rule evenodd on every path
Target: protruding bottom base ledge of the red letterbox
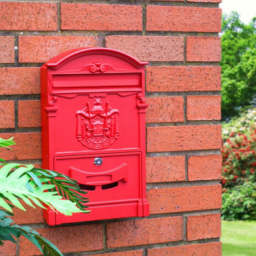
M 44 218 L 48 225 L 55 226 L 63 223 L 74 223 L 93 220 L 108 220 L 114 218 L 145 217 L 149 215 L 149 204 L 147 199 L 143 202 L 129 202 L 107 205 L 92 205 L 88 208 L 89 213 L 75 213 L 66 216 L 52 209 L 44 210 Z M 104 214 L 102 214 L 104 212 Z

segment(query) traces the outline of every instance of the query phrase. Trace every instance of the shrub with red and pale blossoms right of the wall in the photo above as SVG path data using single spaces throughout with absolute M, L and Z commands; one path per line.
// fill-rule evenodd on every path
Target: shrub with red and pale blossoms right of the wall
M 223 125 L 223 192 L 228 188 L 256 182 L 256 109 Z

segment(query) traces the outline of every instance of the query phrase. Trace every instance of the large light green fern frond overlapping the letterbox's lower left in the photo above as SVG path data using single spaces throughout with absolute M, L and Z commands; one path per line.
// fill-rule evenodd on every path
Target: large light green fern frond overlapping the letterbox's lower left
M 7 211 L 12 212 L 8 202 L 26 211 L 17 200 L 20 198 L 31 207 L 35 207 L 32 202 L 42 208 L 47 205 L 65 215 L 87 212 L 84 192 L 67 176 L 33 168 L 31 164 L 0 163 L 0 166 L 0 206 Z

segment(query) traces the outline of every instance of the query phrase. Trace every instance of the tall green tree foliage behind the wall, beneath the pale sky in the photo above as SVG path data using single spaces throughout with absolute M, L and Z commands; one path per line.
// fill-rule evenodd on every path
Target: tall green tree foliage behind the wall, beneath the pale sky
M 246 25 L 236 12 L 223 15 L 221 47 L 221 111 L 227 120 L 255 99 L 256 17 Z

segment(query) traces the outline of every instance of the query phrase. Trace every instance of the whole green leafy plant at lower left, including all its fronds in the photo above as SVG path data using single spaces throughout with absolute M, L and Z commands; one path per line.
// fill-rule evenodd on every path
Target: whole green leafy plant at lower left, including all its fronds
M 0 138 L 0 147 L 9 148 L 10 145 L 15 145 L 13 138 Z M 0 207 L 3 208 L 0 209 L 0 246 L 4 241 L 17 243 L 17 238 L 24 236 L 44 255 L 63 256 L 54 244 L 38 232 L 15 224 L 10 218 L 13 216 L 12 208 L 26 211 L 21 200 L 31 207 L 47 206 L 66 215 L 72 215 L 73 212 L 85 213 L 88 212 L 84 205 L 88 202 L 88 198 L 83 196 L 85 193 L 75 180 L 61 173 L 34 168 L 32 164 L 0 163 Z

